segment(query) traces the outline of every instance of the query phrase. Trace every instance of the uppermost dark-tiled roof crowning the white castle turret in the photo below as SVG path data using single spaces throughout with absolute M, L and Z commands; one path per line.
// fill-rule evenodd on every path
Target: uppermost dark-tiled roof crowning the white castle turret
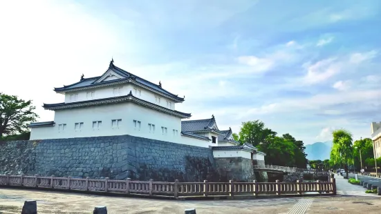
M 118 68 L 117 66 L 115 66 L 113 64 L 113 61 L 111 61 L 109 69 L 113 70 L 113 72 L 118 73 L 118 75 L 120 75 L 120 76 L 122 76 L 124 78 L 123 79 L 115 79 L 115 80 L 111 80 L 111 81 L 104 81 L 104 82 L 100 82 L 100 83 L 95 83 L 95 82 L 98 79 L 100 79 L 102 76 L 91 77 L 91 78 L 84 78 L 84 79 L 81 79 L 80 81 L 78 81 L 75 84 L 71 84 L 71 85 L 68 85 L 68 86 L 61 87 L 61 88 L 55 88 L 54 90 L 59 92 L 59 91 L 64 91 L 64 90 L 86 88 L 86 87 L 90 87 L 90 86 L 99 86 L 99 85 L 103 85 L 103 84 L 111 84 L 111 83 L 114 83 L 114 82 L 116 83 L 116 82 L 119 82 L 119 81 L 125 81 L 127 79 L 133 79 L 137 83 L 142 84 L 144 86 L 147 86 L 148 88 L 151 88 L 152 90 L 156 90 L 157 92 L 165 94 L 165 95 L 167 95 L 167 96 L 169 96 L 169 97 L 171 97 L 173 99 L 176 99 L 178 101 L 184 101 L 183 97 L 178 97 L 178 95 L 174 95 L 172 93 L 169 93 L 169 91 L 161 88 L 160 86 L 158 86 L 158 85 L 156 85 L 154 83 L 151 83 L 150 81 L 147 81 L 147 80 L 142 79 L 142 78 L 140 78 L 140 77 L 138 77 L 136 75 L 133 75 L 130 72 L 127 72 L 126 70 L 123 70 L 122 68 Z

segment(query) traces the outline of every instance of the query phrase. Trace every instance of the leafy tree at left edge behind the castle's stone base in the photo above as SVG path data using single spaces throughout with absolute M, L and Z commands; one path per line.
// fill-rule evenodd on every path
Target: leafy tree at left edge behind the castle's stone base
M 0 93 L 0 139 L 6 135 L 17 135 L 28 130 L 28 124 L 35 121 L 32 101 Z

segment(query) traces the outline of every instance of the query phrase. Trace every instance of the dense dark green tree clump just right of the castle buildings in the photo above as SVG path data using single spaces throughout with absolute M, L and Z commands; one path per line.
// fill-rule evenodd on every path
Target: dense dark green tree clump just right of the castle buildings
M 304 153 L 304 143 L 296 140 L 288 133 L 278 137 L 275 131 L 266 128 L 263 121 L 243 122 L 239 135 L 233 135 L 233 137 L 241 144 L 252 144 L 266 153 L 265 161 L 267 164 L 306 168 L 307 159 Z

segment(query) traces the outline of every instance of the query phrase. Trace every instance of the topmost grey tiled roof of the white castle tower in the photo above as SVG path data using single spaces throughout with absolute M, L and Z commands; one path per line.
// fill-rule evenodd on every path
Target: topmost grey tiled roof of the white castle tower
M 123 77 L 123 78 L 113 79 L 110 81 L 97 82 L 97 80 L 101 79 L 109 70 L 112 70 L 113 72 L 117 73 L 118 75 L 120 75 L 120 77 Z M 176 101 L 182 102 L 185 100 L 183 97 L 178 97 L 178 95 L 174 95 L 172 93 L 169 93 L 169 91 L 163 89 L 160 83 L 159 85 L 151 83 L 150 81 L 147 81 L 136 75 L 133 75 L 130 72 L 123 70 L 122 68 L 118 68 L 117 66 L 113 64 L 113 60 L 110 62 L 109 69 L 107 69 L 106 72 L 104 72 L 104 74 L 99 77 L 91 77 L 91 78 L 82 77 L 81 80 L 76 82 L 75 84 L 71 84 L 68 86 L 60 87 L 60 88 L 54 88 L 54 90 L 56 92 L 64 92 L 64 91 L 70 91 L 70 90 L 80 90 L 84 88 L 95 88 L 95 87 L 100 87 L 100 86 L 110 85 L 110 84 L 120 84 L 124 82 L 131 82 L 143 88 L 154 90 L 154 92 L 159 93 L 165 97 L 174 99 Z

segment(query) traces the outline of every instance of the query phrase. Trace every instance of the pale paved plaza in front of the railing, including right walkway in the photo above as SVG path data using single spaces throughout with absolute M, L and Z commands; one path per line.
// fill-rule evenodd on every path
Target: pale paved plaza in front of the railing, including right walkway
M 380 213 L 381 198 L 365 194 L 361 186 L 337 177 L 336 196 L 288 197 L 259 200 L 174 201 L 132 197 L 111 197 L 80 193 L 0 188 L 0 213 L 21 213 L 25 200 L 37 200 L 39 213 L 90 214 L 94 206 L 107 206 L 109 213 L 184 213 L 196 208 L 204 213 L 289 213 L 304 208 L 305 213 Z

